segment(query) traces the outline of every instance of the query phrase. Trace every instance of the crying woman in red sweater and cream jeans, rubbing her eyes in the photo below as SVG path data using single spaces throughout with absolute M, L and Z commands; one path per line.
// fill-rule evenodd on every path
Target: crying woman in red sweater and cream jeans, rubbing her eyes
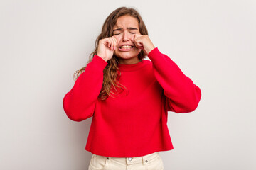
M 110 13 L 91 55 L 63 98 L 71 120 L 92 116 L 89 169 L 164 169 L 159 152 L 174 148 L 167 113 L 194 111 L 201 90 L 154 46 L 134 8 Z

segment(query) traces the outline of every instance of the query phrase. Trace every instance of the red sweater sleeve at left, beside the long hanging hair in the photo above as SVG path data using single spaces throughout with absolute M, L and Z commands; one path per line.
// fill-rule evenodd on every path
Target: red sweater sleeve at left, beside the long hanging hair
M 64 96 L 63 108 L 68 118 L 82 121 L 93 115 L 106 65 L 105 60 L 95 55 L 92 62 L 87 64 L 85 72 L 75 81 L 73 88 Z

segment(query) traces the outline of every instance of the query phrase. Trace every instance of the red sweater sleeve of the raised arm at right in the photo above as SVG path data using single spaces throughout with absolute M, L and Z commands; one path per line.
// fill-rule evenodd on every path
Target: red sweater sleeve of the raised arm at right
M 168 111 L 194 111 L 201 99 L 201 89 L 167 55 L 159 52 L 157 47 L 149 52 L 148 57 L 153 63 L 156 80 L 164 89 Z

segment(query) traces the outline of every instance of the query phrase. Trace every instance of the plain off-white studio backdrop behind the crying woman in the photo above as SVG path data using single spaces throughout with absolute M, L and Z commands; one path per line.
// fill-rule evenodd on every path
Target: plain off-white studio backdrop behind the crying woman
M 256 169 L 254 0 L 1 1 L 0 169 L 87 169 L 92 118 L 68 119 L 62 101 L 120 6 L 202 91 L 196 111 L 169 112 L 165 169 Z

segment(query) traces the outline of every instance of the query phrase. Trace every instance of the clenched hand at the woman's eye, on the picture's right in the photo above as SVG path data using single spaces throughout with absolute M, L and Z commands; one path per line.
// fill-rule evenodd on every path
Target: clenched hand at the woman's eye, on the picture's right
M 135 34 L 134 45 L 137 48 L 142 49 L 146 53 L 146 55 L 148 55 L 149 52 L 151 52 L 151 50 L 155 48 L 154 44 L 151 42 L 149 38 L 149 35 Z

